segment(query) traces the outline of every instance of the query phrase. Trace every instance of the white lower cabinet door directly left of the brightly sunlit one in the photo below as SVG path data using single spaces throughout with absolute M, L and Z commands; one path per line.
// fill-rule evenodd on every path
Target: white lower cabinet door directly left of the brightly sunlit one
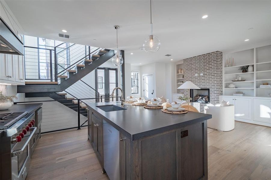
M 251 120 L 251 98 L 235 98 L 235 117 Z

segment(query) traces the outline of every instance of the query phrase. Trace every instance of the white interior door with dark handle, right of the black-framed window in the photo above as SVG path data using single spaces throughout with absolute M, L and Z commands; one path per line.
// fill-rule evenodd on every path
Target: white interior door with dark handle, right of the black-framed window
M 150 100 L 154 98 L 153 75 L 143 76 L 143 93 L 145 100 Z

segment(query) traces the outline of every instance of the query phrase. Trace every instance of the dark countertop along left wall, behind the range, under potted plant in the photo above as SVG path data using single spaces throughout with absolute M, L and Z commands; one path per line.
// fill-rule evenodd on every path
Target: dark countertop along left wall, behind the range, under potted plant
M 13 104 L 8 110 L 0 111 L 2 113 L 17 113 L 17 112 L 34 112 L 38 108 L 42 106 L 42 103 L 35 103 L 35 104 Z

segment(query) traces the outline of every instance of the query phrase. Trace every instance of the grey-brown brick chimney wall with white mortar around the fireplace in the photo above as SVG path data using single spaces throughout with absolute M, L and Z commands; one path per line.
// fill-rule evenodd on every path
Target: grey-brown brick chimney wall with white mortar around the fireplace
M 199 88 L 210 88 L 210 103 L 218 104 L 223 90 L 223 55 L 221 51 L 209 52 L 183 59 L 184 81 L 191 81 Z M 201 76 L 200 73 L 203 73 Z M 198 74 L 198 76 L 195 76 Z M 184 91 L 188 95 L 188 90 Z M 204 112 L 204 103 L 191 103 Z

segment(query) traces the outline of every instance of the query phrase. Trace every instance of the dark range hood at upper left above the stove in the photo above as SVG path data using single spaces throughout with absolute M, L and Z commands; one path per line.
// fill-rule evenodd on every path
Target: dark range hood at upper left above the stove
M 23 42 L 0 18 L 0 53 L 23 55 Z

